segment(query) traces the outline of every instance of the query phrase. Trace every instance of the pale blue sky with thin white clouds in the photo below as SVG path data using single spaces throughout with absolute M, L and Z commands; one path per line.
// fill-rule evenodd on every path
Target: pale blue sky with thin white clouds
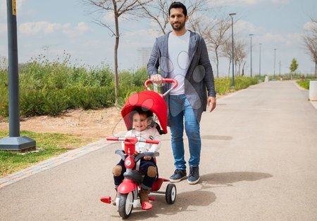
M 82 0 L 16 0 L 16 4 L 20 63 L 39 55 L 61 60 L 68 54 L 73 65 L 113 67 L 115 38 L 108 29 L 93 22 L 92 6 L 82 4 Z M 259 74 L 260 43 L 261 74 L 290 72 L 292 58 L 299 63 L 298 72 L 313 73 L 315 65 L 306 53 L 302 36 L 309 29 L 311 18 L 317 18 L 316 0 L 209 0 L 206 7 L 215 15 L 237 13 L 233 17 L 235 39 L 247 45 L 247 76 L 251 63 L 253 74 Z M 111 15 L 104 19 L 112 21 Z M 120 25 L 118 66 L 120 70 L 134 71 L 141 66 L 138 48 L 151 48 L 161 33 L 155 32 L 153 22 L 144 18 L 122 20 Z M 6 0 L 0 1 L 0 57 L 3 56 L 8 56 Z M 212 60 L 211 65 L 215 71 Z M 227 76 L 228 59 L 221 58 L 219 67 L 220 76 Z

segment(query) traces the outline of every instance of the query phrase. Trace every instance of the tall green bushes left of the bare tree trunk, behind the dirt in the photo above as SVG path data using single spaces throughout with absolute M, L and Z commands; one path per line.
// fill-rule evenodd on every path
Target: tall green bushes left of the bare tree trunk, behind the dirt
M 97 109 L 114 104 L 113 73 L 108 66 L 70 67 L 68 60 L 66 53 L 54 62 L 39 55 L 19 66 L 22 116 L 56 116 L 66 109 Z M 0 114 L 8 116 L 8 74 L 3 71 Z

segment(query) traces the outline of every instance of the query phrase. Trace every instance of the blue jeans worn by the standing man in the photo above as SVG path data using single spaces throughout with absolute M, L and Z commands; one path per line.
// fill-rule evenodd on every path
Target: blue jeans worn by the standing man
M 185 95 L 170 95 L 169 109 L 168 117 L 175 168 L 180 170 L 186 169 L 183 141 L 184 119 L 190 154 L 188 164 L 189 167 L 199 166 L 201 152 L 200 127 L 192 106 Z

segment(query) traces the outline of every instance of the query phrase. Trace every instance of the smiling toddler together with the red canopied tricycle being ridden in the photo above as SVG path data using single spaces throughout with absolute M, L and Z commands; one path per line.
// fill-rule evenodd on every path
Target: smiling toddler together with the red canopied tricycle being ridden
M 173 88 L 178 84 L 173 79 L 164 81 L 174 83 Z M 145 83 L 149 90 L 148 83 L 151 81 Z M 159 192 L 162 183 L 170 180 L 159 178 L 156 166 L 161 134 L 167 133 L 167 106 L 163 100 L 164 95 L 149 90 L 130 96 L 121 110 L 128 133 L 125 137 L 107 138 L 122 141 L 123 148 L 116 150 L 121 160 L 113 168 L 116 196 L 113 200 L 111 196 L 102 197 L 101 201 L 112 202 L 118 207 L 119 215 L 123 218 L 128 218 L 132 208 L 137 206 L 142 206 L 143 210 L 151 209 L 153 205 L 150 201 L 155 198 L 149 196 L 149 192 L 163 193 L 167 203 L 175 202 L 174 184 L 169 183 L 166 192 Z M 154 121 L 154 117 L 159 119 L 160 125 Z

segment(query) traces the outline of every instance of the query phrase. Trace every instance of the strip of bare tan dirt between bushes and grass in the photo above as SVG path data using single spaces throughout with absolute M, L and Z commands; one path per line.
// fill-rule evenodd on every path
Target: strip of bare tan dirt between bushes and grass
M 8 121 L 0 119 L 0 130 L 8 130 Z M 68 133 L 101 140 L 126 131 L 120 110 L 109 107 L 98 110 L 70 110 L 60 116 L 33 116 L 20 119 L 20 130 L 41 133 Z

